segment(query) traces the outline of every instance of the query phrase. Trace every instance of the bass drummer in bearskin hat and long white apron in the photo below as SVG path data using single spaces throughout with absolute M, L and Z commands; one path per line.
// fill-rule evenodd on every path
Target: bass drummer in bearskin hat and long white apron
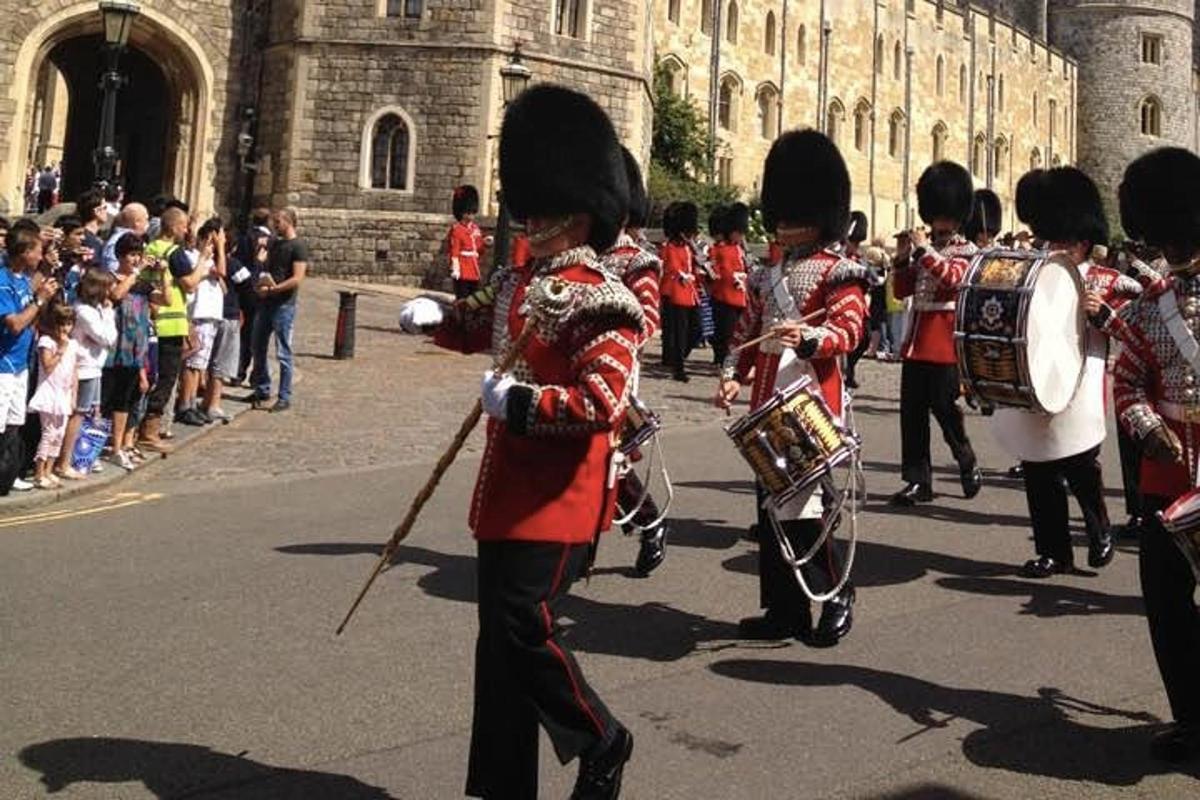
M 1022 570 L 1046 578 L 1074 569 L 1067 488 L 1075 495 L 1087 529 L 1087 565 L 1112 560 L 1112 537 L 1099 462 L 1104 443 L 1104 373 L 1114 313 L 1141 293 L 1136 282 L 1091 261 L 1093 248 L 1108 241 L 1109 225 L 1096 184 L 1073 167 L 1037 173 L 1031 179 L 1033 235 L 1079 270 L 1086 291 L 1088 330 L 1084 379 L 1070 404 L 1058 414 L 1002 408 L 994 419 L 997 440 L 1021 459 L 1025 497 L 1037 558 Z M 1066 483 L 1066 486 L 1064 486 Z

